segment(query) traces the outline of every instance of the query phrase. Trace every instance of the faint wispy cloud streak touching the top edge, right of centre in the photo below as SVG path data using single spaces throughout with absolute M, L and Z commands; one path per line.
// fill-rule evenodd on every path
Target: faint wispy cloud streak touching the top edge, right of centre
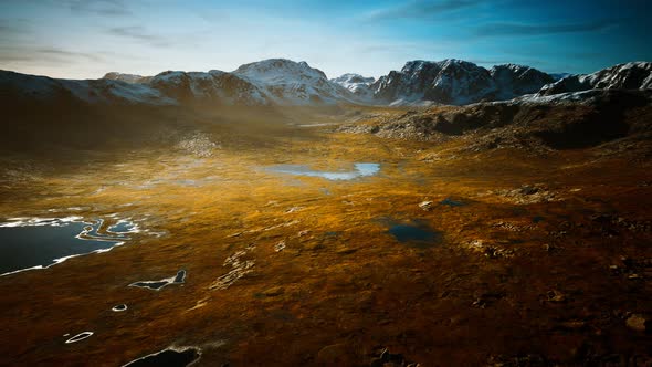
M 398 7 L 378 9 L 367 14 L 367 19 L 392 20 L 392 19 L 428 19 L 442 15 L 458 10 L 475 7 L 481 0 L 414 0 Z

